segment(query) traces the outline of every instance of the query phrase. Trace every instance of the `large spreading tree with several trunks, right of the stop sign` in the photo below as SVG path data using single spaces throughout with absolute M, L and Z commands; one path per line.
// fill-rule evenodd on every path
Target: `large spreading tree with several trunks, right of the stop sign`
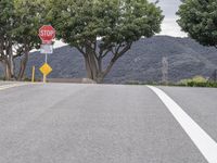
M 98 83 L 133 41 L 159 33 L 163 17 L 148 0 L 51 0 L 58 37 L 82 53 L 88 77 Z

